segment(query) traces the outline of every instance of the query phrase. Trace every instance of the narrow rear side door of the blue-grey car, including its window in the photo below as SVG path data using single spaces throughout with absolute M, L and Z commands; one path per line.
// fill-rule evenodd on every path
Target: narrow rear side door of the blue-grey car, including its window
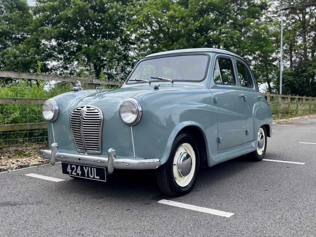
M 247 63 L 239 58 L 234 58 L 237 77 L 240 84 L 240 89 L 245 102 L 246 115 L 246 142 L 253 140 L 253 113 L 256 103 L 261 103 L 261 94 L 258 91 L 254 78 Z

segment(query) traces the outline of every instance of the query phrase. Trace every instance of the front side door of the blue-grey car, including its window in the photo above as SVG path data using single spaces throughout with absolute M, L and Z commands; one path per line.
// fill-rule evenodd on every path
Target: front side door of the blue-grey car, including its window
M 218 150 L 246 142 L 245 105 L 236 80 L 234 57 L 217 54 L 210 91 L 213 94 L 218 121 Z

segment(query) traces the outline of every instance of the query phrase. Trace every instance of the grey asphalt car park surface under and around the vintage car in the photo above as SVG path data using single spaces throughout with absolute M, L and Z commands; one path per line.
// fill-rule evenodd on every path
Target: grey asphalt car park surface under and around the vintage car
M 193 191 L 177 198 L 162 195 L 148 172 L 112 174 L 107 182 L 72 179 L 60 163 L 0 173 L 0 236 L 315 236 L 316 144 L 300 142 L 316 143 L 316 118 L 281 125 L 265 159 L 306 164 L 239 157 L 201 169 Z

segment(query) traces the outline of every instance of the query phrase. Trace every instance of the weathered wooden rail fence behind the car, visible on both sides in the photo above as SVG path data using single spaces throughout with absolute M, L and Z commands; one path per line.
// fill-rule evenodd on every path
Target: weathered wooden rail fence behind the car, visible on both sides
M 100 80 L 94 78 L 94 75 L 89 75 L 86 78 L 65 77 L 56 75 L 33 74 L 25 72 L 8 72 L 0 71 L 0 77 L 23 78 L 33 80 L 52 80 L 74 82 L 76 80 L 86 83 L 86 89 L 94 89 L 95 84 L 118 85 L 121 86 L 123 81 Z M 281 117 L 283 114 L 303 114 L 308 112 L 316 112 L 316 98 L 289 96 L 263 93 L 266 97 L 272 113 Z M 46 98 L 0 98 L 0 104 L 42 104 Z M 41 123 L 22 123 L 22 124 L 5 124 L 0 125 L 0 132 L 39 129 L 46 128 L 46 122 Z

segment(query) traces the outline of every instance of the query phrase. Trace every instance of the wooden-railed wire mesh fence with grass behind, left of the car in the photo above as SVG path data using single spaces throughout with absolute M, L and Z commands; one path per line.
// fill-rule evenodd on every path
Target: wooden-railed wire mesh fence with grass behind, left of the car
M 18 80 L 18 85 L 13 87 L 1 88 L 0 85 L 0 148 L 47 142 L 46 121 L 41 111 L 42 104 L 45 98 L 70 91 L 73 86 L 71 82 L 79 80 L 86 89 L 94 89 L 99 85 L 116 88 L 124 83 L 123 81 L 100 80 L 94 75 L 79 78 L 2 70 L 0 70 L 0 78 L 27 79 L 37 81 L 37 83 L 42 80 L 56 82 L 49 90 L 46 90 L 43 84 L 35 86 L 35 83 L 22 83 L 21 80 Z

